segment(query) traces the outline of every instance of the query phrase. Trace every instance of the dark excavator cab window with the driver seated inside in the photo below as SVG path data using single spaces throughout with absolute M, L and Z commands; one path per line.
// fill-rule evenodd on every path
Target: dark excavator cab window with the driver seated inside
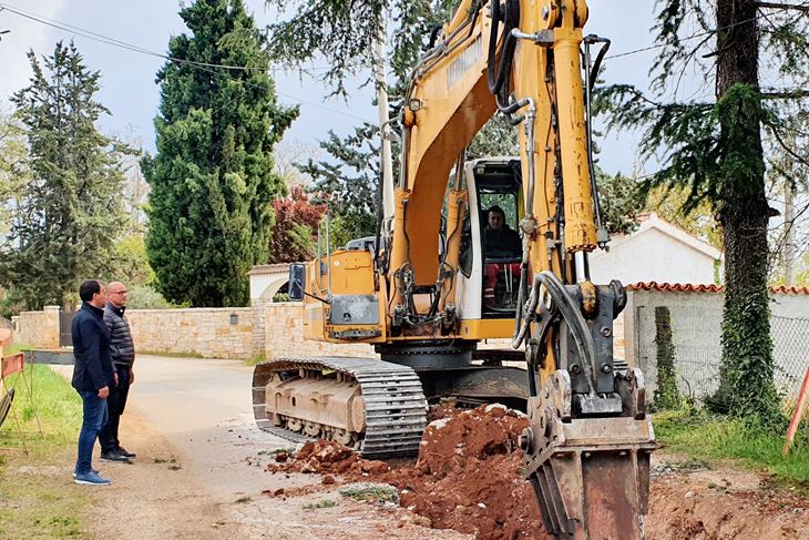
M 513 317 L 520 289 L 522 217 L 520 162 L 489 163 L 475 169 L 478 213 L 483 254 L 483 316 Z

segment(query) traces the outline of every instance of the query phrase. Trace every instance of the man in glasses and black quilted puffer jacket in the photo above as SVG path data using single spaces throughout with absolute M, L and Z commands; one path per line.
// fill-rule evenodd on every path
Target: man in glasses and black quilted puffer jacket
M 107 302 L 104 308 L 104 323 L 110 330 L 110 355 L 117 374 L 117 386 L 110 388 L 107 409 L 110 419 L 99 434 L 101 442 L 101 459 L 104 461 L 127 461 L 135 455 L 121 447 L 117 429 L 121 415 L 126 406 L 130 385 L 135 381 L 132 365 L 135 361 L 135 345 L 132 343 L 130 324 L 124 317 L 126 309 L 127 291 L 123 283 L 113 282 L 107 287 Z

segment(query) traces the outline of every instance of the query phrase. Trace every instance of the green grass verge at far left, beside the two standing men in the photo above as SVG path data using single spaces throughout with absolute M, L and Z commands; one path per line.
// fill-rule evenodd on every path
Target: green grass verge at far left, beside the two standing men
M 34 366 L 33 377 L 27 367 L 25 379 L 13 375 L 6 380 L 9 386 L 16 384 L 12 410 L 23 432 L 18 432 L 11 414 L 0 427 L 0 447 L 4 448 L 0 450 L 0 538 L 83 538 L 90 500 L 86 489 L 70 478 L 81 398 L 47 366 Z M 33 404 L 23 386 L 31 380 Z M 21 451 L 23 438 L 28 456 Z

